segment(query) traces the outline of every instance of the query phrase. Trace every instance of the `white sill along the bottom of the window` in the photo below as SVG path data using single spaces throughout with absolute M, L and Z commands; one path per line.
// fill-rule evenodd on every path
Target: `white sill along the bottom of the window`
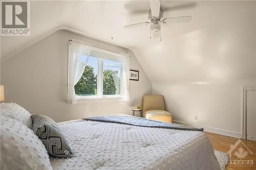
M 76 96 L 75 104 L 86 104 L 86 103 L 109 103 L 109 102 L 122 102 L 122 96 L 108 96 L 99 98 L 97 96 L 85 97 Z

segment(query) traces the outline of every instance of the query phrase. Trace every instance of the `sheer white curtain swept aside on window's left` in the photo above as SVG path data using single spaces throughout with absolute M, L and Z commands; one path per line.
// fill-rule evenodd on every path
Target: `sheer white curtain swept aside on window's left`
M 75 103 L 74 86 L 79 81 L 86 68 L 87 60 L 91 52 L 91 46 L 71 41 L 69 44 L 69 72 L 68 72 L 68 96 L 67 102 Z

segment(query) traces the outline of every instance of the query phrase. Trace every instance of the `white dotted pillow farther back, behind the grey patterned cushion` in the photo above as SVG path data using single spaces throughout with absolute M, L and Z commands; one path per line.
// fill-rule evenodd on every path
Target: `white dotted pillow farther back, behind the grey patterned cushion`
M 0 109 L 1 114 L 6 114 L 18 122 L 23 123 L 29 129 L 32 129 L 33 122 L 31 114 L 23 107 L 16 103 L 1 103 Z

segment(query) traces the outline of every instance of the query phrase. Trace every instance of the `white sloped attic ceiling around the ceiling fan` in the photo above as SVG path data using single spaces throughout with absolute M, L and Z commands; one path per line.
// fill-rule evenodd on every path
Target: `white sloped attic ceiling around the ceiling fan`
M 256 79 L 255 1 L 161 2 L 164 17 L 193 18 L 163 25 L 159 41 L 149 26 L 123 29 L 147 21 L 148 1 L 31 1 L 31 35 L 1 37 L 1 58 L 66 27 L 130 48 L 152 83 Z

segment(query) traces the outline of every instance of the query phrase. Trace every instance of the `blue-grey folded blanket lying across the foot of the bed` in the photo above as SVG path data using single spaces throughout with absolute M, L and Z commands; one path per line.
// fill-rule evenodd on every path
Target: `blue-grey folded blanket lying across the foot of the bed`
M 150 120 L 150 119 L 135 117 L 135 116 L 108 115 L 108 116 L 88 117 L 83 119 L 96 121 L 96 122 L 126 124 L 126 125 L 150 127 L 150 128 L 165 128 L 165 129 L 190 130 L 190 131 L 204 130 L 203 128 L 186 127 L 180 124 L 158 122 L 155 120 Z

